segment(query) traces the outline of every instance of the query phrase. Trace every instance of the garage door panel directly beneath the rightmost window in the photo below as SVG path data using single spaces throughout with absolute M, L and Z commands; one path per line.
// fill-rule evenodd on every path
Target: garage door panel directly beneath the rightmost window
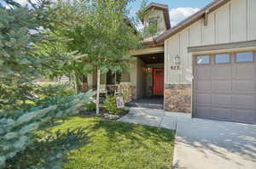
M 242 64 L 233 66 L 233 78 L 253 79 L 255 76 L 255 66 L 253 64 Z

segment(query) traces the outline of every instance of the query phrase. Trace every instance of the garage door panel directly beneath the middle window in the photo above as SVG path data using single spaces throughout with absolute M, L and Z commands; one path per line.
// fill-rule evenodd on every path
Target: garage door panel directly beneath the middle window
M 230 79 L 232 75 L 231 65 L 213 66 L 212 79 Z

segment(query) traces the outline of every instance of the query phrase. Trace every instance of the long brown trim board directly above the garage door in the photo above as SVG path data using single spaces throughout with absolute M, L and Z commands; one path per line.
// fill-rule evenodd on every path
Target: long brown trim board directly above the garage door
M 206 46 L 189 47 L 189 53 L 219 51 L 219 50 L 235 50 L 239 48 L 256 48 L 256 40 L 246 42 L 230 42 Z

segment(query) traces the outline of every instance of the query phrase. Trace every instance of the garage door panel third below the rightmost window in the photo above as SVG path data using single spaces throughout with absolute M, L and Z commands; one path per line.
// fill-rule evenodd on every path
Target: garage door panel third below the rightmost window
M 256 108 L 256 97 L 254 95 L 233 95 L 234 107 Z

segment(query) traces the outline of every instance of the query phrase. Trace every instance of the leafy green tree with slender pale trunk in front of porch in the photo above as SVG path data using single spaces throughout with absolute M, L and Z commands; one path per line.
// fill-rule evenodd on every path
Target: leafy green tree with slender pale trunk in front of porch
M 131 0 L 58 0 L 51 7 L 51 28 L 49 35 L 58 39 L 48 42 L 42 48 L 54 52 L 78 51 L 86 54 L 71 66 L 61 70 L 73 71 L 78 78 L 97 70 L 97 91 L 100 75 L 111 71 L 121 71 L 129 67 L 131 56 L 128 51 L 137 48 L 140 36 L 128 19 L 127 5 Z M 50 51 L 50 48 L 52 51 Z M 99 103 L 99 93 L 97 93 Z M 97 104 L 97 114 L 99 106 Z

